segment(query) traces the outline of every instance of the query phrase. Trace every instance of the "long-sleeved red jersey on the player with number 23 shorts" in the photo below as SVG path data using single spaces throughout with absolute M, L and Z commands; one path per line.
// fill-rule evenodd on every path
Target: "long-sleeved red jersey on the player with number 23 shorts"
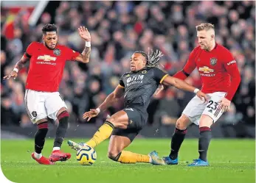
M 184 73 L 190 74 L 195 68 L 201 76 L 202 92 L 226 92 L 226 98 L 231 100 L 241 82 L 238 65 L 228 49 L 216 43 L 212 51 L 205 51 L 200 46 L 193 49 Z M 181 71 L 176 73 L 179 79 L 185 79 Z

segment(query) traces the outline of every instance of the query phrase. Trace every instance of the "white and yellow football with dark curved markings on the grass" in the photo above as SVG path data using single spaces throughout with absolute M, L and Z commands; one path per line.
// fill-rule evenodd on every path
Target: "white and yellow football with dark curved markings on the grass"
M 96 151 L 90 146 L 83 146 L 83 148 L 77 151 L 77 161 L 80 163 L 80 165 L 92 165 L 96 159 Z

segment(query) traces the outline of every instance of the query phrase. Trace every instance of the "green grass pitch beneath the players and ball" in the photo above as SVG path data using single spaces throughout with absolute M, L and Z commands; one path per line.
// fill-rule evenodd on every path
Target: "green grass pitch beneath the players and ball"
M 38 165 L 30 156 L 33 146 L 33 140 L 1 140 L 1 169 L 8 179 L 24 183 L 255 182 L 255 140 L 212 140 L 210 167 L 206 168 L 186 166 L 187 162 L 198 158 L 198 140 L 184 140 L 179 165 L 165 166 L 113 162 L 106 155 L 108 141 L 95 149 L 97 161 L 94 165 L 79 165 L 75 160 L 75 151 L 66 145 L 66 141 L 63 150 L 72 153 L 71 159 L 57 165 Z M 169 153 L 169 147 L 170 140 L 167 139 L 136 139 L 127 150 L 141 154 L 156 150 L 162 157 Z M 47 139 L 43 153 L 48 157 L 51 151 L 52 139 Z

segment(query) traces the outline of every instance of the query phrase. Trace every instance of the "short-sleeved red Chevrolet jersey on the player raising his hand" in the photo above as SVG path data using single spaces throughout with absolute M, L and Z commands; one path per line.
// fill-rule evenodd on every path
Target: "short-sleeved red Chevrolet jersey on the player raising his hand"
M 67 60 L 75 60 L 80 53 L 66 46 L 48 49 L 43 43 L 32 42 L 24 57 L 30 58 L 26 88 L 36 91 L 56 92 Z

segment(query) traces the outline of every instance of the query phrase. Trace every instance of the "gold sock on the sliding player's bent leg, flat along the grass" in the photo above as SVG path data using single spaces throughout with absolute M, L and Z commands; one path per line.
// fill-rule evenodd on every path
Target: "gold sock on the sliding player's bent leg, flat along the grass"
M 117 159 L 117 162 L 121 163 L 136 163 L 136 162 L 150 162 L 148 155 L 136 154 L 131 151 L 122 151 L 120 157 Z

